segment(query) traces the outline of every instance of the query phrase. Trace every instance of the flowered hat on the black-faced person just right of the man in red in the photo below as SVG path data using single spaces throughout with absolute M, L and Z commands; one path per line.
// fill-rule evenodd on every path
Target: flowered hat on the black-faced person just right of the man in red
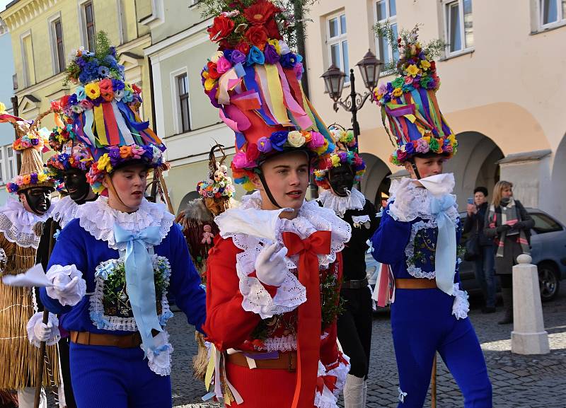
M 366 163 L 355 151 L 357 146 L 354 133 L 337 124 L 333 124 L 328 130 L 335 141 L 336 150 L 333 153 L 320 157 L 317 161 L 314 169 L 316 185 L 328 190 L 330 188 L 328 177 L 326 177 L 328 171 L 331 168 L 340 167 L 342 164 L 352 167 L 354 182 L 362 181 L 362 177 L 364 177 L 366 172 Z

